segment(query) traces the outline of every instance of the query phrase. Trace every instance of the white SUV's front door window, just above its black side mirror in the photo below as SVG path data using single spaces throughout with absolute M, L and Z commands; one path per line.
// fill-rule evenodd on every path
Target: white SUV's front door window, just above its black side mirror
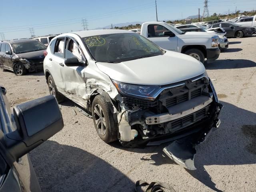
M 79 62 L 82 61 L 82 54 L 78 48 L 78 45 L 72 39 L 67 38 L 65 58 L 72 58 L 72 57 L 76 57 Z

